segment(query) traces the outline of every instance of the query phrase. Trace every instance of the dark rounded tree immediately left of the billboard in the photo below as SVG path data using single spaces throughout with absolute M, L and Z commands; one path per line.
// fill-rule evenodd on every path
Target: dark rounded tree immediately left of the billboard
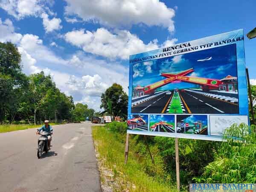
M 127 116 L 128 96 L 121 85 L 114 83 L 101 96 L 100 108 L 111 114 L 112 119 L 116 116 Z

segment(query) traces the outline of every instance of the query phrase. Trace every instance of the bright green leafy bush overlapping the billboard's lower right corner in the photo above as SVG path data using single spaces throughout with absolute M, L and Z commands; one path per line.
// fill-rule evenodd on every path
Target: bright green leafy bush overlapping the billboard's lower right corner
M 215 151 L 214 161 L 194 180 L 198 183 L 255 183 L 255 126 L 251 126 L 250 130 L 245 124 L 234 124 L 226 129 L 225 138 L 227 142 L 221 143 L 221 147 Z

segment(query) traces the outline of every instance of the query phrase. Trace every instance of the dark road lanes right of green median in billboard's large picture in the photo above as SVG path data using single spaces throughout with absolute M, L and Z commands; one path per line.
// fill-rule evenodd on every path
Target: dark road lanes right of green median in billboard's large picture
M 239 113 L 239 106 L 190 91 L 179 92 L 191 113 Z

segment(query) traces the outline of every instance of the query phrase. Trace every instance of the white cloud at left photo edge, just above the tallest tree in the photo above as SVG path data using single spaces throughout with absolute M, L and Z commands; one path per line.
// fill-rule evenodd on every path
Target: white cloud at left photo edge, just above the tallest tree
M 2 22 L 0 18 L 0 42 L 12 41 L 13 43 L 18 43 L 22 35 L 20 33 L 15 33 L 12 21 L 6 19 Z

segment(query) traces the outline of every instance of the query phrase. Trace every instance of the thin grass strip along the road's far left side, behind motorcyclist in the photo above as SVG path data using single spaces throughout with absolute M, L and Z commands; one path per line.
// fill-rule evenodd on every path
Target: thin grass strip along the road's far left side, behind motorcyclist
M 11 131 L 19 131 L 19 130 L 31 129 L 31 128 L 38 128 L 38 127 L 41 127 L 42 125 L 29 125 L 29 124 L 0 125 L 0 133 L 6 133 L 6 132 L 11 132 Z M 60 125 L 60 123 L 50 123 L 50 125 Z

